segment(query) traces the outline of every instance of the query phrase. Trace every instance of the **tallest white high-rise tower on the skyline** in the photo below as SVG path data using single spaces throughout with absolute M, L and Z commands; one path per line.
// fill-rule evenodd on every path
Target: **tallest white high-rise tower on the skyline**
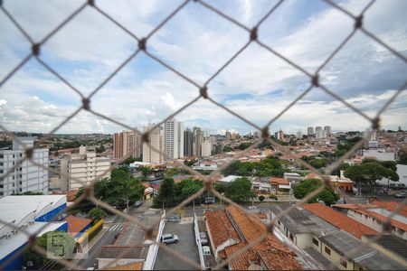
M 184 124 L 174 117 L 164 124 L 164 149 L 166 161 L 184 157 Z

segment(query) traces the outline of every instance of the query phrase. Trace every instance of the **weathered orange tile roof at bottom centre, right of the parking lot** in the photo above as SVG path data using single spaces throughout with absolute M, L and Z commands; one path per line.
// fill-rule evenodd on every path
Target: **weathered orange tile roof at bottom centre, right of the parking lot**
M 297 256 L 282 244 L 272 233 L 267 233 L 264 224 L 246 212 L 230 205 L 226 210 L 205 212 L 209 238 L 218 261 L 231 257 L 249 244 L 259 242 L 232 259 L 231 270 L 248 270 L 260 266 L 263 269 L 303 269 Z M 263 236 L 262 240 L 259 240 Z

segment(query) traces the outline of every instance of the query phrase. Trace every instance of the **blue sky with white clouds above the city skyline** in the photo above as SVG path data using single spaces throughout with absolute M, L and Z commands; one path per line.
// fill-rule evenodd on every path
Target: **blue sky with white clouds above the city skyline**
M 83 1 L 10 1 L 4 6 L 34 42 L 61 23 Z M 359 14 L 368 1 L 336 1 Z M 181 1 L 96 1 L 137 37 L 150 33 Z M 222 13 L 251 28 L 275 1 L 207 1 Z M 379 0 L 364 15 L 364 26 L 402 55 L 407 55 L 407 1 Z M 354 21 L 322 1 L 287 0 L 260 25 L 259 40 L 313 73 L 353 29 Z M 30 43 L 0 12 L 0 81 L 30 52 Z M 248 42 L 249 34 L 203 5 L 190 2 L 147 42 L 147 50 L 203 85 Z M 41 58 L 72 86 L 89 95 L 134 51 L 137 42 L 87 6 L 71 23 L 45 42 Z M 407 79 L 406 62 L 355 33 L 320 72 L 320 81 L 337 95 L 374 117 Z M 218 103 L 264 126 L 307 89 L 308 77 L 277 56 L 251 43 L 208 85 Z M 199 90 L 145 53 L 120 70 L 91 98 L 93 110 L 128 126 L 158 122 L 196 98 Z M 80 96 L 35 59 L 0 86 L 0 121 L 9 130 L 48 132 L 80 107 Z M 253 131 L 237 117 L 208 100 L 199 99 L 175 118 L 185 126 L 208 132 Z M 407 93 L 383 115 L 384 128 L 407 129 Z M 364 130 L 369 122 L 330 97 L 312 89 L 271 125 L 295 133 L 307 126 L 332 126 L 334 131 Z M 121 126 L 86 111 L 58 133 L 112 133 Z

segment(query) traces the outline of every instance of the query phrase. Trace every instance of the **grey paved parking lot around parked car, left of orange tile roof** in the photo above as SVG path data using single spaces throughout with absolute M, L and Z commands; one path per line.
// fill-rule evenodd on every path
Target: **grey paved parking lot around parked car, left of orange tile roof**
M 173 233 L 178 236 L 178 243 L 167 245 L 178 253 L 193 260 L 199 265 L 198 248 L 195 245 L 194 224 L 180 224 L 179 222 L 166 222 L 164 233 Z M 164 249 L 159 249 L 154 270 L 192 270 L 195 269 L 183 260 L 169 254 Z

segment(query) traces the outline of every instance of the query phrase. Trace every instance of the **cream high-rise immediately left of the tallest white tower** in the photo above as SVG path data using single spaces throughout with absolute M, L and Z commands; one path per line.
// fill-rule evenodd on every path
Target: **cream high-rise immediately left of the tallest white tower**
M 154 125 L 151 125 L 154 126 Z M 150 127 L 151 127 L 150 126 Z M 148 128 L 146 128 L 147 131 Z M 164 135 L 161 134 L 160 127 L 156 127 L 148 134 L 150 145 L 143 144 L 143 162 L 152 164 L 164 163 Z

